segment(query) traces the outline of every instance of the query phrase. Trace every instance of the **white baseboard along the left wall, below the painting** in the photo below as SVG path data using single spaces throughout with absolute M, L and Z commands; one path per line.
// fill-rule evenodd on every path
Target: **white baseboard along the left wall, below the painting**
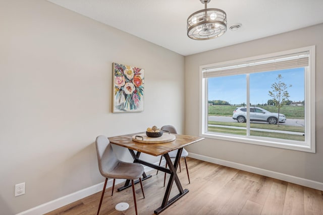
M 163 162 L 165 164 L 165 162 Z M 158 164 L 156 164 L 158 165 Z M 150 167 L 145 167 L 145 172 L 149 172 L 153 170 Z M 122 183 L 125 180 L 123 179 L 117 179 L 116 184 Z M 112 187 L 113 179 L 107 180 L 106 188 Z M 36 207 L 30 208 L 28 210 L 22 211 L 20 213 L 17 213 L 16 215 L 41 215 L 47 212 L 50 212 L 52 210 L 55 210 L 57 208 L 63 207 L 64 205 L 70 204 L 74 201 L 77 201 L 81 198 L 84 198 L 86 196 L 92 195 L 94 193 L 102 191 L 104 182 L 95 184 L 93 186 L 84 188 L 82 190 L 76 191 L 74 193 L 68 194 L 66 196 L 54 199 L 52 201 L 43 203 L 41 205 L 38 205 Z

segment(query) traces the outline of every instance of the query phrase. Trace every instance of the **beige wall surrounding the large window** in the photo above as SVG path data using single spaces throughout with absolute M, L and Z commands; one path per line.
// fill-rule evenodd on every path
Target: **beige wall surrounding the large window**
M 199 66 L 316 46 L 316 154 L 206 138 L 188 151 L 323 183 L 323 24 L 185 57 L 185 133 L 199 134 Z M 238 83 L 233 83 L 238 84 Z

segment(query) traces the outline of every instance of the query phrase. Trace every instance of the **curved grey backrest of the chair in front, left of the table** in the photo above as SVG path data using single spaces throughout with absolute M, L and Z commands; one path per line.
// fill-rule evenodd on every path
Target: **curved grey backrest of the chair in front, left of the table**
M 107 177 L 119 160 L 115 156 L 110 141 L 106 136 L 100 135 L 96 137 L 95 146 L 99 171 L 102 176 Z

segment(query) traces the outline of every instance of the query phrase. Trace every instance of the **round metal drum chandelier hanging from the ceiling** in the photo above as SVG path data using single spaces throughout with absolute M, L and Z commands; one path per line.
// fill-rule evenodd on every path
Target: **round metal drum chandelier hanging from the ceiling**
M 220 37 L 227 31 L 227 14 L 223 10 L 209 8 L 211 0 L 200 0 L 204 10 L 196 11 L 187 19 L 187 36 L 193 40 L 208 40 Z

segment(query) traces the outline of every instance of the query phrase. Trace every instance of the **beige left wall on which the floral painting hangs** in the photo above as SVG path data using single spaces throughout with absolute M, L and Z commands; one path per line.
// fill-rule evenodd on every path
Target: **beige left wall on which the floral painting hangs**
M 102 182 L 97 135 L 184 130 L 184 56 L 44 0 L 0 0 L 0 29 L 1 214 Z M 112 113 L 113 62 L 145 69 L 143 112 Z

